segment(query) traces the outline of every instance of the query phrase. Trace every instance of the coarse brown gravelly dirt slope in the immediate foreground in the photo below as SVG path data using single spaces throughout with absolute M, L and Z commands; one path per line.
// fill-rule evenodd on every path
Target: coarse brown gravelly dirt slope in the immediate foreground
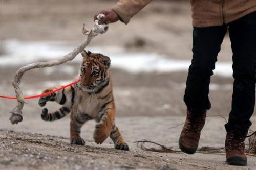
M 112 144 L 86 147 L 68 144 L 68 138 L 14 131 L 0 131 L 1 169 L 255 169 L 249 157 L 247 167 L 228 166 L 224 154 L 166 154 L 119 151 Z M 204 158 L 202 163 L 201 158 Z

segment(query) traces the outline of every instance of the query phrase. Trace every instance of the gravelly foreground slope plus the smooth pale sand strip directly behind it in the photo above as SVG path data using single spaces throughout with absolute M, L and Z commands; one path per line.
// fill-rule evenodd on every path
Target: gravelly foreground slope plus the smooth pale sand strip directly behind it
M 225 164 L 224 153 L 194 155 L 156 153 L 142 151 L 133 143 L 133 141 L 148 139 L 177 150 L 177 136 L 181 127 L 169 130 L 167 127 L 182 122 L 183 119 L 184 117 L 117 118 L 117 125 L 131 148 L 131 151 L 126 152 L 115 150 L 110 139 L 102 145 L 96 145 L 92 138 L 93 122 L 89 122 L 82 129 L 81 136 L 86 140 L 86 145 L 74 146 L 69 144 L 68 119 L 50 124 L 38 124 L 37 120 L 28 121 L 27 119 L 19 126 L 8 128 L 13 130 L 0 131 L 1 167 L 3 169 L 14 167 L 16 169 L 49 169 L 53 166 L 55 169 L 255 169 L 256 159 L 252 156 L 248 156 L 248 166 L 236 167 Z M 220 118 L 207 120 L 200 147 L 223 146 L 224 128 L 214 126 L 218 122 L 224 121 Z M 27 132 L 19 132 L 20 129 Z M 29 131 L 37 133 L 28 133 Z M 55 136 L 49 134 L 55 134 Z M 218 138 L 213 141 L 211 136 L 218 136 Z

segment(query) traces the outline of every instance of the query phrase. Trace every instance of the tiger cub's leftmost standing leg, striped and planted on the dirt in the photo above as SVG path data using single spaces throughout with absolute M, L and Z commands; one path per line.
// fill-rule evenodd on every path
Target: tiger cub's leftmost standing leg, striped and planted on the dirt
M 71 112 L 70 121 L 70 144 L 84 145 L 86 142 L 81 138 L 81 127 L 87 119 L 81 119 L 76 109 Z

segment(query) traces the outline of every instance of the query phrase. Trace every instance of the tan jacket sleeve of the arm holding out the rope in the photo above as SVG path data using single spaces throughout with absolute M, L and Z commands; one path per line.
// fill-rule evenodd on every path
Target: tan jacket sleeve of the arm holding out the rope
M 130 19 L 142 10 L 152 0 L 119 0 L 116 5 L 112 7 L 121 18 L 121 21 L 127 24 Z

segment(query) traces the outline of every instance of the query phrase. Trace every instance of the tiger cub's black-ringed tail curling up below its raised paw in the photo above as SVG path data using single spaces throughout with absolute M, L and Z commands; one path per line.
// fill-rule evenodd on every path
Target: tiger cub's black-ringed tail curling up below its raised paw
M 41 118 L 45 121 L 54 121 L 65 117 L 70 112 L 70 108 L 61 107 L 58 111 L 48 113 L 48 109 L 42 109 Z

